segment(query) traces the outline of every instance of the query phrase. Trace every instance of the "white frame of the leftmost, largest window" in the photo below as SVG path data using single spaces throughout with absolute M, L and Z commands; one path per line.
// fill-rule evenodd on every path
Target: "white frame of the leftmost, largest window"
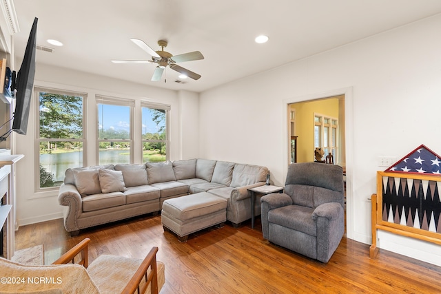
M 81 138 L 41 138 L 40 137 L 40 93 L 50 93 L 50 94 L 59 94 L 59 95 L 65 95 L 65 96 L 81 96 L 82 97 L 82 127 L 83 127 L 83 134 Z M 51 87 L 34 87 L 34 100 L 35 100 L 35 146 L 34 146 L 34 154 L 35 154 L 35 164 L 34 164 L 34 191 L 36 193 L 39 192 L 46 192 L 46 191 L 56 191 L 59 189 L 60 186 L 53 186 L 53 187 L 40 187 L 40 143 L 42 141 L 45 142 L 79 142 L 82 144 L 82 164 L 85 165 L 85 160 L 87 160 L 87 128 L 85 127 L 87 125 L 87 116 L 86 114 L 86 106 L 88 101 L 88 94 L 85 92 L 79 92 L 74 90 L 61 90 Z

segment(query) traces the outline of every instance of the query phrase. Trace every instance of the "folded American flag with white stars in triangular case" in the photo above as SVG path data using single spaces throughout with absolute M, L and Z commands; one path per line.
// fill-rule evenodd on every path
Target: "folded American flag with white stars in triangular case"
M 409 174 L 438 174 L 441 176 L 441 157 L 420 145 L 385 171 Z

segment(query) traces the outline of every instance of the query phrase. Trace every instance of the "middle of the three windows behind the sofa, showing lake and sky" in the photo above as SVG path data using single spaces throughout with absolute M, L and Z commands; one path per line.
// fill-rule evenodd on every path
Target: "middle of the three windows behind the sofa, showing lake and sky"
M 96 103 L 99 165 L 132 163 L 134 101 L 97 96 Z

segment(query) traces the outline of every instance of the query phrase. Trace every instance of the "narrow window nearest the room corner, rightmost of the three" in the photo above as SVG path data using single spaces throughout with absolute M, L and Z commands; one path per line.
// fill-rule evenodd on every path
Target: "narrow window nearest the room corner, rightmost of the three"
M 167 121 L 170 107 L 141 103 L 143 162 L 167 160 L 168 135 Z

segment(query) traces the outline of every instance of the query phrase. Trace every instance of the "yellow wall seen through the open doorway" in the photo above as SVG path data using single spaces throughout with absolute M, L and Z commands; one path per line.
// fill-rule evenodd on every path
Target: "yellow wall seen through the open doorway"
M 291 109 L 296 112 L 297 162 L 314 161 L 314 113 L 338 118 L 338 97 L 293 103 Z

